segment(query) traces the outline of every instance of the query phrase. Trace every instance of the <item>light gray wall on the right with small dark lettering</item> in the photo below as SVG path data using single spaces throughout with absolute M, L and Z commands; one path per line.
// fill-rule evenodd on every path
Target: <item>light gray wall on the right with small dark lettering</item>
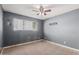
M 44 34 L 50 41 L 79 49 L 79 9 L 46 20 Z

